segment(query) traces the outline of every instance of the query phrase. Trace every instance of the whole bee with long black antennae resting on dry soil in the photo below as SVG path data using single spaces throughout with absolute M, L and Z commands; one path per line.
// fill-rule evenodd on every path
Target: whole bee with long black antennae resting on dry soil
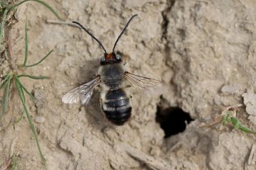
M 89 30 L 80 23 L 73 21 L 73 23 L 80 26 L 99 43 L 100 47 L 104 50 L 104 56 L 100 59 L 100 67 L 97 76 L 91 81 L 68 91 L 62 98 L 63 103 L 78 103 L 78 101 L 80 101 L 82 105 L 85 105 L 90 100 L 95 87 L 98 87 L 100 91 L 100 106 L 107 119 L 114 125 L 124 125 L 124 123 L 129 120 L 132 114 L 132 106 L 130 105 L 130 97 L 127 96 L 125 92 L 127 83 L 129 86 L 133 86 L 136 89 L 144 89 L 146 87 L 155 86 L 160 82 L 156 79 L 150 79 L 127 72 L 124 69 L 122 56 L 114 51 L 117 42 L 135 16 L 137 16 L 137 14 L 129 19 L 117 40 L 114 42 L 111 53 L 107 53 L 102 42 L 95 38 Z

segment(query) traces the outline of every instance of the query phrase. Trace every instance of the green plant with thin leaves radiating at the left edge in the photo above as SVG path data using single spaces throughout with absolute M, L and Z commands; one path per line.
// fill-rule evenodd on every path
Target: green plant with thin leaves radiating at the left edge
M 50 53 L 53 52 L 53 50 L 50 50 L 50 52 L 48 52 L 48 54 L 45 57 L 43 57 L 40 61 L 36 62 L 35 64 L 27 64 L 27 60 L 28 60 L 28 33 L 27 33 L 27 31 L 28 31 L 28 28 L 27 28 L 27 24 L 26 24 L 26 26 L 25 26 L 25 58 L 24 58 L 23 64 L 20 66 L 23 68 L 35 67 L 36 65 L 43 62 L 43 60 L 46 60 L 46 57 L 48 57 L 50 55 Z M 0 90 L 4 89 L 4 96 L 3 96 L 3 100 L 1 102 L 0 120 L 1 120 L 1 117 L 4 115 L 4 113 L 6 113 L 6 108 L 8 106 L 8 102 L 9 102 L 10 86 L 13 85 L 14 87 L 16 87 L 16 89 L 18 91 L 18 96 L 21 99 L 23 109 L 26 113 L 26 117 L 28 118 L 28 123 L 31 126 L 33 136 L 35 137 L 35 140 L 36 140 L 38 152 L 41 156 L 42 162 L 44 163 L 46 161 L 46 159 L 44 159 L 43 153 L 41 152 L 41 147 L 38 142 L 38 135 L 37 135 L 35 127 L 32 123 L 31 116 L 28 111 L 28 107 L 26 106 L 25 93 L 28 94 L 28 96 L 30 96 L 31 99 L 33 99 L 33 101 L 35 101 L 36 98 L 31 94 L 31 92 L 29 92 L 26 89 L 25 86 L 23 86 L 23 84 L 21 83 L 22 77 L 27 77 L 30 79 L 48 79 L 48 77 L 43 77 L 43 76 L 37 77 L 37 76 L 33 76 L 33 75 L 28 75 L 28 74 L 17 74 L 16 72 L 9 72 L 8 74 L 6 74 L 3 77 L 3 81 L 1 81 L 1 83 L 0 83 Z

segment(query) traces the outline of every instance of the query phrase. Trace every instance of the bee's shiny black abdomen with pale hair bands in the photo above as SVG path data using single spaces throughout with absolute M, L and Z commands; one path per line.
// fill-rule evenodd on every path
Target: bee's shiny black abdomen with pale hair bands
M 122 89 L 107 91 L 102 100 L 102 111 L 114 125 L 124 125 L 131 117 L 132 107 L 129 98 Z

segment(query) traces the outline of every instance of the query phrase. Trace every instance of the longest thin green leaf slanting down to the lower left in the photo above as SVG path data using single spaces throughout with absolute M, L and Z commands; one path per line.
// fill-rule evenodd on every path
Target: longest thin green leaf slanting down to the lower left
M 24 111 L 25 111 L 26 116 L 28 118 L 28 123 L 31 126 L 31 130 L 33 132 L 33 136 L 35 137 L 36 145 L 38 147 L 39 154 L 41 156 L 43 164 L 45 164 L 46 163 L 46 159 L 43 157 L 43 153 L 41 151 L 41 147 L 40 147 L 40 144 L 39 144 L 39 141 L 38 141 L 38 135 L 36 133 L 35 126 L 32 123 L 31 116 L 29 115 L 28 108 L 26 106 L 26 101 L 25 101 L 25 96 L 23 94 L 23 89 L 21 87 L 21 84 L 18 83 L 17 77 L 15 77 L 15 79 L 16 79 L 15 84 L 16 84 L 16 87 L 18 89 L 18 96 L 20 96 L 20 98 L 21 98 L 21 103 L 23 104 Z

